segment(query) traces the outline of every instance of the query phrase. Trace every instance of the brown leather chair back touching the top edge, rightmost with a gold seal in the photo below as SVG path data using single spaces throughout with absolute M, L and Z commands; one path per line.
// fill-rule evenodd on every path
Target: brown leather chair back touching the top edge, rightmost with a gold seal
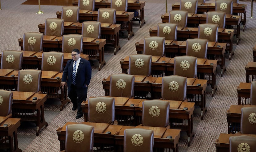
M 226 12 L 226 14 L 233 14 L 233 0 L 216 0 L 215 11 Z

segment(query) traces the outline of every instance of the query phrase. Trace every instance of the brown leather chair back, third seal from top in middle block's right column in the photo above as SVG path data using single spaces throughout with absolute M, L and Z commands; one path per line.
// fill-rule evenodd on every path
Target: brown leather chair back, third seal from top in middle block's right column
M 208 39 L 210 42 L 218 42 L 219 25 L 204 23 L 198 26 L 198 38 Z

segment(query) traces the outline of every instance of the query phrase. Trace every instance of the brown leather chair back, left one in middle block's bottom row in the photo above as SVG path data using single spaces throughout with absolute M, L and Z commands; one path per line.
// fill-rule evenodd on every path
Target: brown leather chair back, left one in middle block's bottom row
M 92 152 L 94 127 L 85 124 L 66 126 L 65 150 L 61 152 Z

